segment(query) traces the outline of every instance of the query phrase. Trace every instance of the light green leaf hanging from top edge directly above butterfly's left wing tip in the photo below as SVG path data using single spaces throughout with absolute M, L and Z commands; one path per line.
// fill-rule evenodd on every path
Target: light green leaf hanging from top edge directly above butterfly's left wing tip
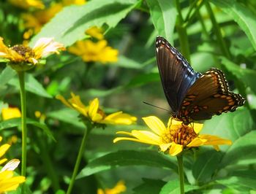
M 173 43 L 174 27 L 176 24 L 176 1 L 169 0 L 146 0 L 154 28 L 159 36 L 164 36 Z

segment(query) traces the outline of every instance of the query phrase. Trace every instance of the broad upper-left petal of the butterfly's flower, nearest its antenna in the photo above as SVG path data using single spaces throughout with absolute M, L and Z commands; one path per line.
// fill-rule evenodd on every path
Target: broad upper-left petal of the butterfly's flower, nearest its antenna
M 159 120 L 158 117 L 143 117 L 143 120 L 146 123 L 146 125 L 148 125 L 148 127 L 151 128 L 152 131 L 154 131 L 154 133 L 157 133 L 157 135 L 160 135 L 162 132 L 166 130 L 165 124 L 162 123 L 162 121 Z

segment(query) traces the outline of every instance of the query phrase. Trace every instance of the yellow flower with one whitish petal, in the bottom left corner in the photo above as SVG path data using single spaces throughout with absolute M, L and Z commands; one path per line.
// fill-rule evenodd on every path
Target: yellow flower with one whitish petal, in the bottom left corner
M 25 182 L 25 176 L 13 176 L 20 160 L 10 160 L 0 171 L 0 193 L 16 190 L 18 185 Z

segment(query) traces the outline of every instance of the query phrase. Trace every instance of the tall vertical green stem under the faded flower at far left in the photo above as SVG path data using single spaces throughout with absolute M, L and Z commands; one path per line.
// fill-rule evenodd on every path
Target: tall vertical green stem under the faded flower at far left
M 22 131 L 22 154 L 21 154 L 21 175 L 26 176 L 26 90 L 25 90 L 25 71 L 18 71 L 20 81 L 20 104 L 21 104 L 21 131 Z M 22 193 L 24 187 L 22 187 Z

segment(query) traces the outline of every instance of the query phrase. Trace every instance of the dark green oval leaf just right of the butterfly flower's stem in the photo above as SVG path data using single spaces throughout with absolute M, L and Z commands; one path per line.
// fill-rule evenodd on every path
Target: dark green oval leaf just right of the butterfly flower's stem
M 216 150 L 207 150 L 199 155 L 192 166 L 196 182 L 208 182 L 219 166 L 222 154 Z

